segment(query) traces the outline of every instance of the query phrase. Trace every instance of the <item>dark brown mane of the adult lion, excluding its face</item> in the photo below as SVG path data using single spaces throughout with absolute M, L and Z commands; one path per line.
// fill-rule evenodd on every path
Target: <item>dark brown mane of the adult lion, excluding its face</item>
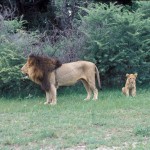
M 41 71 L 43 74 L 42 77 L 38 78 L 38 80 L 41 83 L 41 88 L 45 91 L 49 91 L 50 82 L 48 79 L 48 75 L 50 72 L 59 68 L 62 65 L 62 63 L 56 58 L 51 58 L 48 56 L 34 54 L 34 53 L 29 55 L 29 60 L 31 60 L 32 65 L 35 68 L 37 68 L 39 71 Z M 36 72 L 35 72 L 35 74 L 36 74 Z

